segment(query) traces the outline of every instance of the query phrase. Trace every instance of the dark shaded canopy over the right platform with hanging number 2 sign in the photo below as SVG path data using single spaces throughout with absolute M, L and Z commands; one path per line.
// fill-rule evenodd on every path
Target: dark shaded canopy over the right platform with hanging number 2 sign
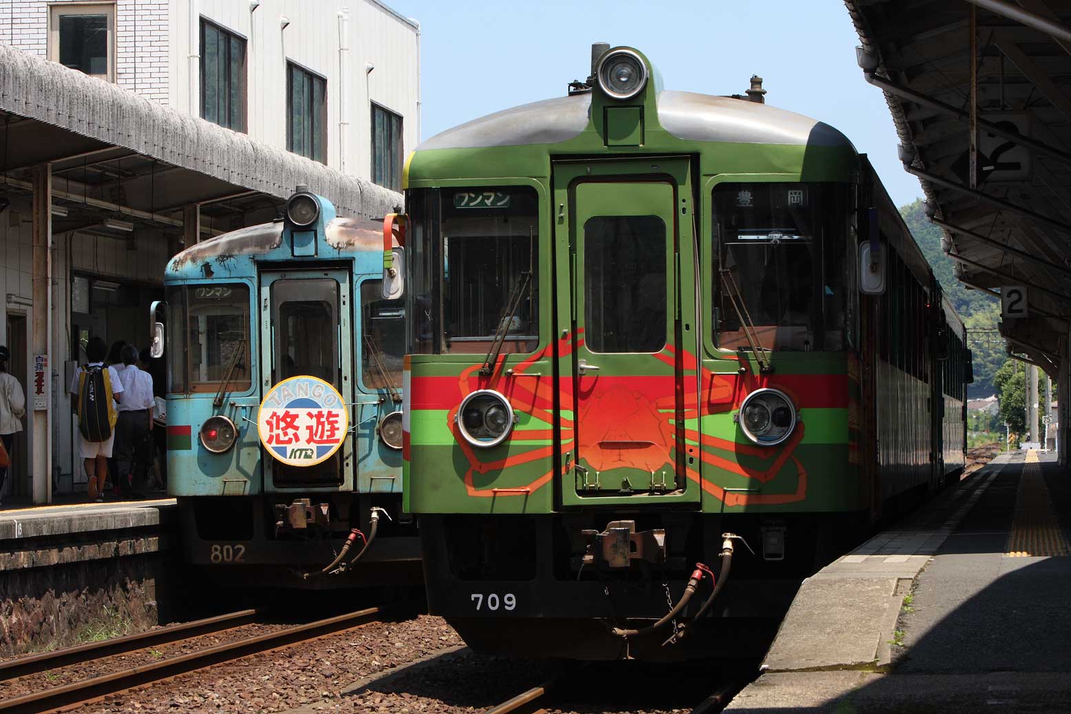
M 995 293 L 1026 286 L 1026 316 L 1006 315 L 1000 331 L 1056 377 L 1071 316 L 1071 5 L 846 4 L 956 277 Z

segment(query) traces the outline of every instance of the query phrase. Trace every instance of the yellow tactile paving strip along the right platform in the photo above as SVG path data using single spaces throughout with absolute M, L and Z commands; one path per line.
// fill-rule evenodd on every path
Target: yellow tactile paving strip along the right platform
M 1041 477 L 1039 462 L 1038 452 L 1026 452 L 1026 464 L 1015 496 L 1015 518 L 1005 548 L 1006 558 L 1071 555 L 1071 547 L 1049 501 L 1049 488 Z

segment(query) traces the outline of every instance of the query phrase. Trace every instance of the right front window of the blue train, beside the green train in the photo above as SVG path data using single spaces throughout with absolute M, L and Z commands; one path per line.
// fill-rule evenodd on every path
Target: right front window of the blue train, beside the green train
M 361 283 L 361 384 L 378 390 L 402 386 L 405 301 L 383 300 L 382 280 Z

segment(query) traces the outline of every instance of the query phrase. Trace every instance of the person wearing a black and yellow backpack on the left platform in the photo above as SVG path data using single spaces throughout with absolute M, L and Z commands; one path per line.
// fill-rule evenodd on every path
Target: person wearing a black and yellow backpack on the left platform
M 89 498 L 104 500 L 108 477 L 108 458 L 116 439 L 116 404 L 123 383 L 115 367 L 104 366 L 108 346 L 100 337 L 90 337 L 86 346 L 88 361 L 80 365 L 71 382 L 71 407 L 78 414 L 78 453 L 86 465 Z

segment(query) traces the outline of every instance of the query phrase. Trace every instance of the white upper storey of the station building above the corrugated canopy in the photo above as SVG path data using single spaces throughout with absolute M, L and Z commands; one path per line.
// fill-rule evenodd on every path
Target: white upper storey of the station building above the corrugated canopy
M 377 0 L 0 0 L 0 44 L 397 191 L 420 27 Z

